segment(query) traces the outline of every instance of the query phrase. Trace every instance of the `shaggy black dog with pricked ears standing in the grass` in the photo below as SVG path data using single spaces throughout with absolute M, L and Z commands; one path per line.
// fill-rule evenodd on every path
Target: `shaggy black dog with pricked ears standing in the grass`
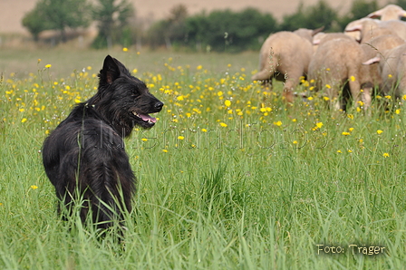
M 162 106 L 122 63 L 110 55 L 104 59 L 98 92 L 79 103 L 43 142 L 43 167 L 68 212 L 82 198 L 82 222 L 90 209 L 97 227 L 122 222 L 136 190 L 123 138 L 136 125 L 151 128 L 156 119 L 148 114 Z

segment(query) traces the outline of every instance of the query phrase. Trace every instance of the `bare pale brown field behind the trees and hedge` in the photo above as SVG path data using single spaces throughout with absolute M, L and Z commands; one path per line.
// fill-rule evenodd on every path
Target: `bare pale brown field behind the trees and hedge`
M 216 9 L 232 9 L 235 11 L 248 6 L 260 9 L 264 13 L 271 13 L 275 18 L 281 20 L 285 14 L 295 13 L 297 5 L 303 2 L 304 5 L 314 5 L 319 0 L 130 0 L 136 9 L 140 21 L 146 24 L 165 18 L 169 15 L 171 7 L 183 4 L 188 7 L 189 14 L 197 14 L 206 10 L 210 12 Z M 334 8 L 342 13 L 346 12 L 353 0 L 326 0 Z M 387 0 L 379 0 L 381 5 Z M 27 33 L 21 24 L 24 14 L 32 10 L 36 0 L 1 0 L 0 1 L 0 34 Z

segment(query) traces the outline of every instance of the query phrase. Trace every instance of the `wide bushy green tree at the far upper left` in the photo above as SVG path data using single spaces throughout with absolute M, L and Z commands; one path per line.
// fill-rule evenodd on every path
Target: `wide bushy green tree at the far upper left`
M 67 28 L 89 26 L 90 10 L 87 0 L 40 0 L 34 10 L 25 14 L 23 25 L 35 40 L 43 30 L 58 30 L 66 42 Z

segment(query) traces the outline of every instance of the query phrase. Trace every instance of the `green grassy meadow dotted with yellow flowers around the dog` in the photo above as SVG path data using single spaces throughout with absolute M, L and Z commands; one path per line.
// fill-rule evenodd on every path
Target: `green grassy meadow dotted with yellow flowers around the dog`
M 63 222 L 44 138 L 110 53 L 165 103 L 125 141 L 138 178 L 124 243 Z M 405 269 L 406 97 L 286 106 L 257 53 L 0 52 L 1 269 Z M 356 78 L 355 78 L 356 79 Z

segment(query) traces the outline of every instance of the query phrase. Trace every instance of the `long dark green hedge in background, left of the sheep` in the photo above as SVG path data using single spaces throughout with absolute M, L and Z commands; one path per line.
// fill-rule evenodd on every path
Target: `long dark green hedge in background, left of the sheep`
M 150 28 L 153 46 L 177 43 L 193 50 L 238 52 L 258 49 L 266 36 L 276 31 L 271 14 L 253 8 L 241 12 L 231 10 L 201 13 L 181 20 L 164 20 Z

